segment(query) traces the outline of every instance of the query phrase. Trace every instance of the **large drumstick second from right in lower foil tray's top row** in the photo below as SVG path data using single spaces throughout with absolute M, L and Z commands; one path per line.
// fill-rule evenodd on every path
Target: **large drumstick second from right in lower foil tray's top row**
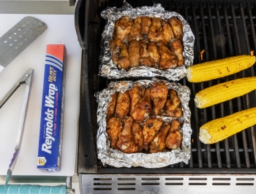
M 151 101 L 153 101 L 153 110 L 150 117 L 156 117 L 159 111 L 165 106 L 167 94 L 168 88 L 164 82 L 154 83 L 150 92 Z

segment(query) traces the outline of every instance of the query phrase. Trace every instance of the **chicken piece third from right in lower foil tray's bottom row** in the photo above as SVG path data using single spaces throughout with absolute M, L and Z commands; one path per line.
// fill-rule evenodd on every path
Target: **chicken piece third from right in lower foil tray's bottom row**
M 148 151 L 150 142 L 154 139 L 154 136 L 156 135 L 156 133 L 158 133 L 161 126 L 161 118 L 149 118 L 145 121 L 145 123 L 143 123 L 144 150 Z

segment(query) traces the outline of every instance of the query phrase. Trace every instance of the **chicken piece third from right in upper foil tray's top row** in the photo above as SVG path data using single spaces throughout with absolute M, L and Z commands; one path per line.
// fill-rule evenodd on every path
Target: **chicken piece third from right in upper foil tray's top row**
M 148 39 L 150 39 L 151 42 L 158 42 L 163 39 L 160 18 L 152 18 L 152 23 L 148 30 Z

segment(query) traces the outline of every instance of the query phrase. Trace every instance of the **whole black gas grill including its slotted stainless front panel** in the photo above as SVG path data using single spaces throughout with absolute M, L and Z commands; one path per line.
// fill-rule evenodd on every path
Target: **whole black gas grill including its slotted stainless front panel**
M 195 34 L 194 64 L 233 55 L 256 52 L 255 1 L 132 1 L 132 7 L 162 4 L 178 12 Z M 217 144 L 203 144 L 198 132 L 204 123 L 256 106 L 256 91 L 222 104 L 197 109 L 195 93 L 211 85 L 241 77 L 255 76 L 255 66 L 238 74 L 192 84 L 181 79 L 191 90 L 192 153 L 188 164 L 165 168 L 114 168 L 97 159 L 97 102 L 94 93 L 111 81 L 99 77 L 99 43 L 105 20 L 99 13 L 106 7 L 121 7 L 123 1 L 78 1 L 75 27 L 83 48 L 80 98 L 78 173 L 81 193 L 253 193 L 256 176 L 255 126 Z M 128 78 L 138 80 L 151 78 Z M 220 94 L 221 95 L 221 94 Z M 225 187 L 229 185 L 229 187 Z M 243 187 L 244 186 L 244 187 Z

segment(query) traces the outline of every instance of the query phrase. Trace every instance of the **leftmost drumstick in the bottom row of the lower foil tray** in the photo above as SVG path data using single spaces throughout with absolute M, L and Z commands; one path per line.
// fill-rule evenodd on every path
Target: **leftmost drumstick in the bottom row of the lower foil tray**
M 123 129 L 123 123 L 118 117 L 111 117 L 107 121 L 106 132 L 108 133 L 110 139 L 110 147 L 117 149 L 116 142 L 118 141 L 118 135 Z

